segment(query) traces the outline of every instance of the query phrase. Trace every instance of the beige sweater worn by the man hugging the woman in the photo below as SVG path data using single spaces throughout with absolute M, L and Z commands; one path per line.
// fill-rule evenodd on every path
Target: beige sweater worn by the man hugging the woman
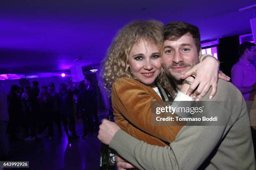
M 203 100 L 208 100 L 211 89 Z M 230 82 L 218 81 L 209 115 L 222 126 L 184 126 L 170 147 L 149 145 L 119 130 L 110 147 L 138 169 L 145 170 L 255 170 L 246 103 Z M 168 133 L 168 132 L 166 132 Z

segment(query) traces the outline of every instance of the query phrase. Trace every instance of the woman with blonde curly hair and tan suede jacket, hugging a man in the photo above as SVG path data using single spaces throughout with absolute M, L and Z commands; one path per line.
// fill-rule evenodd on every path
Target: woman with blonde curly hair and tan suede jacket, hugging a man
M 108 49 L 102 69 L 105 88 L 108 92 L 112 89 L 116 124 L 133 137 L 159 146 L 172 142 L 182 128 L 151 125 L 151 101 L 171 101 L 174 98 L 172 86 L 161 67 L 163 28 L 158 21 L 126 25 Z M 215 67 L 217 72 L 218 64 L 214 59 L 207 57 L 203 62 Z M 205 72 L 205 65 L 198 65 Z M 204 74 L 202 72 L 197 74 Z M 207 75 L 215 75 L 215 72 L 207 72 Z M 186 80 L 192 81 L 193 78 Z M 180 90 L 187 92 L 187 89 L 188 85 L 184 84 Z

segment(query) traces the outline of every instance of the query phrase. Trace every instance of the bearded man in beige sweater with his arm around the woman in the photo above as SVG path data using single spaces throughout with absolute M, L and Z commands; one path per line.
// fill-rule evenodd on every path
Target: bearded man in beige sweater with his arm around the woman
M 177 89 L 182 85 L 180 77 L 199 62 L 200 53 L 200 33 L 196 26 L 183 22 L 165 26 L 162 59 L 165 71 Z M 210 91 L 202 100 L 209 101 Z M 103 120 L 100 125 L 98 138 L 138 169 L 254 170 L 249 118 L 241 92 L 231 83 L 219 80 L 211 101 L 221 102 L 219 105 L 208 102 L 210 105 L 204 110 L 209 115 L 218 115 L 223 125 L 184 126 L 170 147 L 148 145 L 108 120 Z M 131 168 L 131 164 L 121 161 L 118 166 L 120 169 Z

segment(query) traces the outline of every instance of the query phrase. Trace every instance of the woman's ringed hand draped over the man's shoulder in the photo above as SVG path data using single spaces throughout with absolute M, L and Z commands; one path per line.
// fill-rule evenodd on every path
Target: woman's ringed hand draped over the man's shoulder
M 212 92 L 209 95 L 209 99 L 211 100 L 217 91 L 218 62 L 212 57 L 206 57 L 205 60 L 192 67 L 181 78 L 186 79 L 193 73 L 196 73 L 197 76 L 187 90 L 187 95 L 192 95 L 191 97 L 196 98 L 195 100 L 201 100 L 212 86 Z M 230 78 L 223 73 L 220 75 L 220 78 L 226 81 L 230 80 Z

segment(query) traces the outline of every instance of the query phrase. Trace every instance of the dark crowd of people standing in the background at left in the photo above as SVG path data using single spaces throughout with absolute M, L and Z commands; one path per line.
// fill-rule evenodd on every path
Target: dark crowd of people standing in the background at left
M 97 90 L 91 84 L 90 77 L 79 82 L 61 83 L 59 92 L 50 82 L 41 86 L 37 81 L 32 87 L 12 85 L 7 95 L 9 120 L 6 132 L 10 140 L 41 139 L 48 128 L 48 140 L 54 140 L 54 122 L 59 137 L 62 136 L 61 122 L 68 140 L 80 138 L 76 133 L 77 116 L 82 117 L 84 134 L 82 138 L 97 131 L 99 119 L 97 115 Z M 95 121 L 93 120 L 93 117 Z

